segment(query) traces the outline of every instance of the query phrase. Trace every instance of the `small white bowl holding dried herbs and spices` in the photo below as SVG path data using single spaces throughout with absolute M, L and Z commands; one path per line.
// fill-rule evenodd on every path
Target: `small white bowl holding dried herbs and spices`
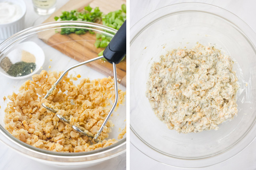
M 44 51 L 35 42 L 23 42 L 0 57 L 0 73 L 10 79 L 25 79 L 44 64 Z

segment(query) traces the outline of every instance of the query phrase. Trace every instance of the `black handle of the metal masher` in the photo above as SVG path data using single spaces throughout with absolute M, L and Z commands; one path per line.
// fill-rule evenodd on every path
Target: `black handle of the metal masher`
M 116 32 L 106 49 L 103 56 L 108 62 L 118 64 L 126 55 L 126 20 Z

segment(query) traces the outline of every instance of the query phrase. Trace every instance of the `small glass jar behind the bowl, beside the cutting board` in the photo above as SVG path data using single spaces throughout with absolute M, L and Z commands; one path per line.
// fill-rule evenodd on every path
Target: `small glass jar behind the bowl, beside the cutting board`
M 56 9 L 56 0 L 32 0 L 35 12 L 39 15 L 52 14 Z

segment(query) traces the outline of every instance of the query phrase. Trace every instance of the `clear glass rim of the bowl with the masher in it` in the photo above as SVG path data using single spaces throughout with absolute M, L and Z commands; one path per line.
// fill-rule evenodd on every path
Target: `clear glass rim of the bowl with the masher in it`
M 67 25 L 75 25 L 75 26 L 67 26 Z M 9 37 L 2 43 L 0 43 L 0 49 L 1 48 L 9 48 L 11 45 L 16 44 L 17 42 L 23 40 L 23 38 L 26 38 L 32 34 L 37 34 L 42 31 L 47 31 L 51 29 L 57 29 L 57 28 L 87 28 L 92 31 L 97 31 L 104 34 L 109 34 L 113 36 L 117 30 L 113 28 L 109 28 L 107 26 L 103 26 L 96 23 L 88 23 L 88 22 L 81 22 L 81 21 L 58 21 L 58 22 L 52 22 L 52 23 L 45 23 L 38 26 L 33 26 L 30 28 L 26 28 L 23 31 L 20 31 L 13 36 Z M 4 52 L 3 50 L 2 52 Z M 84 161 L 98 161 L 99 159 L 109 159 L 111 157 L 117 156 L 121 153 L 124 153 L 126 151 L 126 137 L 121 139 L 119 142 L 112 144 L 108 147 L 101 148 L 99 150 L 93 150 L 88 152 L 80 152 L 80 153 L 59 153 L 59 152 L 53 152 L 48 150 L 43 150 L 37 147 L 33 147 L 29 144 L 26 144 L 24 142 L 21 142 L 20 140 L 16 139 L 14 136 L 12 136 L 7 130 L 4 129 L 0 125 L 0 141 L 9 145 L 13 149 L 19 151 L 20 153 L 25 153 L 26 155 L 32 156 L 35 159 L 44 159 L 44 160 L 50 160 L 50 161 L 60 161 L 60 162 L 84 162 Z M 10 142 L 11 141 L 11 142 Z M 14 145 L 13 145 L 14 144 Z M 35 153 L 38 153 L 38 155 L 35 155 Z M 104 154 L 103 154 L 104 153 Z M 45 156 L 45 157 L 42 157 Z M 50 157 L 50 159 L 49 159 Z M 87 159 L 84 159 L 87 157 Z M 90 158 L 88 158 L 90 157 Z M 55 158 L 55 159 L 54 159 Z M 62 158 L 61 160 L 59 158 Z M 70 159 L 70 158 L 76 158 L 76 159 Z

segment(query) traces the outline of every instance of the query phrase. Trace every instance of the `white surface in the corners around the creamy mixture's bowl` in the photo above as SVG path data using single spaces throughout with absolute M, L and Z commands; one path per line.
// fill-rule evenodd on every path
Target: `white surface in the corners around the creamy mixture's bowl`
M 227 9 L 244 20 L 256 31 L 256 1 L 255 0 L 130 0 L 130 27 L 152 11 L 181 2 L 209 3 Z M 132 89 L 131 89 L 132 90 Z M 130 144 L 131 170 L 183 170 L 170 167 L 145 156 L 136 147 Z M 200 170 L 255 170 L 256 169 L 256 140 L 233 158 Z

